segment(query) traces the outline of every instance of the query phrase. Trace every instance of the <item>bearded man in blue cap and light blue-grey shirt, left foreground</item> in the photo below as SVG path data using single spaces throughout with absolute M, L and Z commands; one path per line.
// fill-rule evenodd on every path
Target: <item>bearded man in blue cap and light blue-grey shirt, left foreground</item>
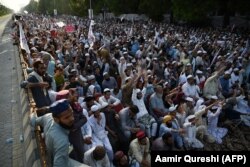
M 41 117 L 31 115 L 31 124 L 43 127 L 49 166 L 73 167 L 76 161 L 69 158 L 68 134 L 74 124 L 72 108 L 66 99 L 54 102 L 49 114 Z M 74 164 L 73 164 L 74 163 Z M 79 163 L 77 164 L 79 165 Z

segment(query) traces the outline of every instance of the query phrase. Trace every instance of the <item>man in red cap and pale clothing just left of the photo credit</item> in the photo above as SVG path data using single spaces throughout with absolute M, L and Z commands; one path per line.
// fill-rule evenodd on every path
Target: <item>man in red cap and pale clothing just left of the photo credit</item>
M 143 131 L 136 134 L 136 138 L 131 141 L 129 146 L 129 160 L 130 164 L 137 164 L 138 166 L 150 167 L 151 156 L 149 153 L 149 139 Z

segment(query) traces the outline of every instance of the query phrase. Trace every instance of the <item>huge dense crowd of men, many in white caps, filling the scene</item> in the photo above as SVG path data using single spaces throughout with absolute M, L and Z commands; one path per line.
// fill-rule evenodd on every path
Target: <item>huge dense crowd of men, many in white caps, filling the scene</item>
M 147 167 L 151 150 L 222 144 L 250 112 L 249 32 L 33 14 L 17 41 L 19 26 L 52 166 Z

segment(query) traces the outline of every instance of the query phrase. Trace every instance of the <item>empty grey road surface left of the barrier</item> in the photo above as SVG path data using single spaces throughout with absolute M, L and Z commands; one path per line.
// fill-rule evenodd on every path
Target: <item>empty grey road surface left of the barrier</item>
M 20 60 L 11 40 L 11 15 L 0 17 L 0 167 L 22 167 L 22 117 L 17 70 Z

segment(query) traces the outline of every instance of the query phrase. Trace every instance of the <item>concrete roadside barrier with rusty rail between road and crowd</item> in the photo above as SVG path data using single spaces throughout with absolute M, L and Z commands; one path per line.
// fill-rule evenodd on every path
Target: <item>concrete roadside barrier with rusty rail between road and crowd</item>
M 24 57 L 20 53 L 20 67 L 18 71 L 18 82 L 28 78 L 27 67 L 24 61 Z M 33 100 L 31 91 L 29 89 L 20 88 L 20 103 L 22 112 L 22 128 L 23 128 L 23 143 L 25 150 L 24 165 L 27 167 L 47 167 L 45 143 L 41 135 L 41 129 L 39 126 L 31 127 L 30 114 L 36 112 L 35 102 Z

